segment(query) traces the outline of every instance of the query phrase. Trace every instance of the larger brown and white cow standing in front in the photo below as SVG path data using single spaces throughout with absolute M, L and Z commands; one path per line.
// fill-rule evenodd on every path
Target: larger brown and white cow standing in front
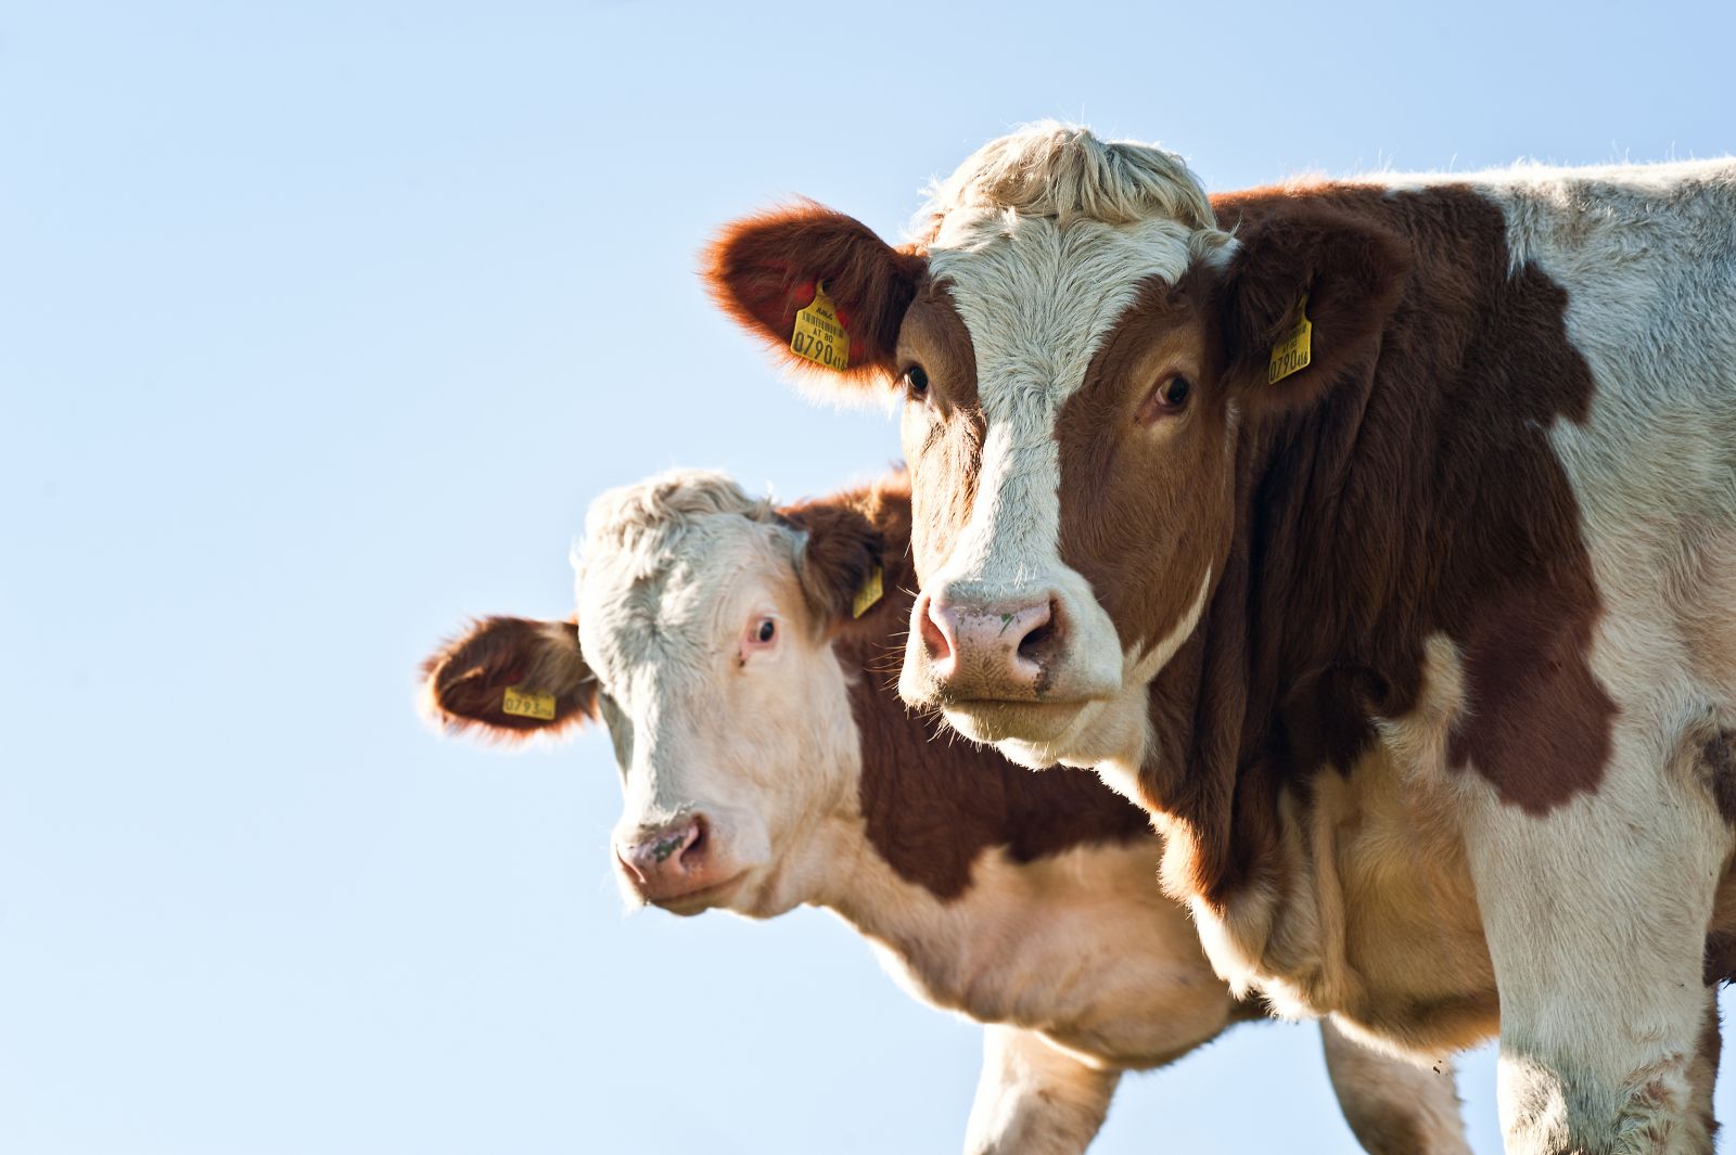
M 1736 969 L 1736 161 L 1302 182 L 1038 125 L 889 246 L 708 276 L 904 397 L 901 692 L 1095 767 L 1217 971 L 1430 1053 L 1510 1152 L 1706 1152 Z M 842 345 L 844 342 L 840 342 Z

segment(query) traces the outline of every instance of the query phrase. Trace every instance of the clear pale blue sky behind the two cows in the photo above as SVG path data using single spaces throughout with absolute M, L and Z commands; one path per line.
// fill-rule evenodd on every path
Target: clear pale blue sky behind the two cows
M 0 7 L 0 1152 L 957 1150 L 974 1025 L 826 914 L 623 917 L 601 735 L 413 711 L 465 616 L 568 612 L 597 491 L 896 458 L 694 251 L 795 192 L 896 236 L 1042 116 L 1213 189 L 1724 154 L 1733 42 L 1722 0 Z M 1496 1152 L 1488 1051 L 1462 1086 Z M 1356 1150 L 1314 1028 L 1130 1080 L 1097 1152 L 1160 1150 Z

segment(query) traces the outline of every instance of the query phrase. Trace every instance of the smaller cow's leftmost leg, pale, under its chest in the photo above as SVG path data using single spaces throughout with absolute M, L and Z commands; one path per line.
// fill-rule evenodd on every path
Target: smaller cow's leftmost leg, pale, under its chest
M 1036 1032 L 991 1023 L 965 1155 L 1080 1155 L 1120 1079 L 1120 1070 L 1090 1067 Z

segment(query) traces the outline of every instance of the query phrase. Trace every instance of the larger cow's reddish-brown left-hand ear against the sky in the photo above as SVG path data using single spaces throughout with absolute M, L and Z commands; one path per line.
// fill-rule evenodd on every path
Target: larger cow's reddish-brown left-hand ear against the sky
M 814 203 L 724 225 L 701 262 L 724 312 L 788 364 L 814 369 L 821 385 L 830 380 L 852 392 L 892 373 L 898 330 L 927 269 L 913 248 L 892 248 L 859 220 Z M 826 302 L 847 349 L 816 361 L 802 352 L 812 350 L 814 330 L 804 323 L 799 331 L 797 314 L 812 317 L 812 307 L 825 310 Z

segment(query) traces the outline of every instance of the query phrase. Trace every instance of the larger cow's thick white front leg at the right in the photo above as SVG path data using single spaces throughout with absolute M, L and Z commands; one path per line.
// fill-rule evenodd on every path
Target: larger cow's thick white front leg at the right
M 1500 989 L 1509 1155 L 1712 1152 L 1703 980 L 1727 832 L 1686 773 L 1616 734 L 1595 793 L 1526 813 L 1465 789 L 1465 850 Z

